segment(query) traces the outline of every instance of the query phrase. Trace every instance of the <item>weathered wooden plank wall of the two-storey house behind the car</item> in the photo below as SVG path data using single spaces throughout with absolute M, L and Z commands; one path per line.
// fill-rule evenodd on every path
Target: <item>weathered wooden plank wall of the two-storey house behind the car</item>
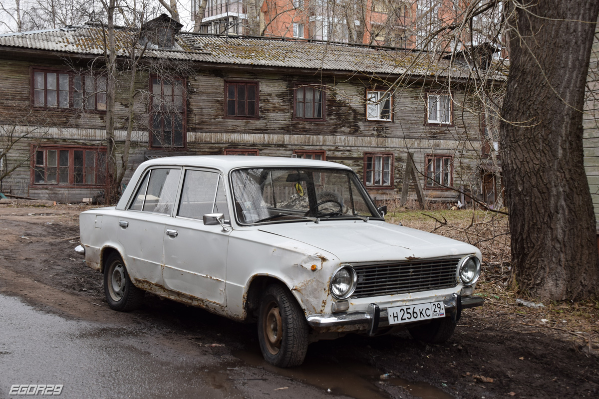
M 57 60 L 60 62 L 60 60 Z M 58 68 L 58 63 L 43 65 L 28 60 L 0 60 L 0 86 L 7 87 L 7 95 L 0 98 L 0 123 L 7 123 L 2 115 L 22 112 L 22 120 L 29 126 L 46 120 L 49 129 L 36 133 L 19 144 L 8 163 L 29 157 L 31 145 L 77 144 L 105 145 L 104 117 L 102 112 L 77 112 L 36 109 L 31 114 L 31 68 L 46 66 Z M 62 66 L 66 68 L 65 66 Z M 225 80 L 259 81 L 259 119 L 235 120 L 225 118 Z M 301 84 L 326 86 L 326 120 L 292 120 L 293 89 Z M 465 87 L 454 87 L 454 126 L 435 127 L 425 124 L 425 93 L 440 90 L 441 85 L 423 86 L 413 83 L 394 93 L 394 120 L 368 121 L 365 117 L 366 87 L 386 87 L 385 81 L 368 81 L 364 77 L 339 77 L 315 74 L 280 74 L 261 69 L 223 70 L 198 67 L 195 75 L 187 77 L 187 150 L 184 154 L 223 154 L 226 148 L 257 148 L 261 155 L 289 157 L 294 150 L 325 150 L 326 159 L 344 163 L 362 176 L 364 153 L 393 153 L 395 160 L 394 187 L 389 190 L 369 190 L 376 199 L 395 197 L 401 191 L 407 152 L 415 154 L 416 167 L 425 170 L 427 154 L 454 157 L 453 185 L 470 187 L 475 193 L 480 186 L 477 166 L 480 163 L 479 120 L 473 109 L 474 100 L 467 98 Z M 122 87 L 128 86 L 123 80 Z M 131 150 L 132 168 L 141 163 L 147 154 L 181 154 L 153 151 L 147 148 L 149 115 L 149 75 L 142 74 L 136 85 L 135 127 Z M 7 112 L 5 112 L 7 111 Z M 20 115 L 20 114 L 19 114 Z M 126 123 L 126 98 L 117 95 L 117 140 L 124 139 Z M 33 117 L 33 118 L 31 118 Z M 29 118 L 29 119 L 28 119 Z M 4 119 L 4 120 L 3 120 Z M 119 143 L 122 145 L 122 142 Z M 129 170 L 126 181 L 131 176 Z M 81 200 L 90 197 L 98 188 L 39 189 L 30 185 L 29 164 L 23 166 L 3 182 L 14 193 L 53 200 Z M 68 192 L 65 192 L 68 191 Z M 431 200 L 455 200 L 451 190 L 425 190 Z M 411 193 L 415 196 L 415 193 Z

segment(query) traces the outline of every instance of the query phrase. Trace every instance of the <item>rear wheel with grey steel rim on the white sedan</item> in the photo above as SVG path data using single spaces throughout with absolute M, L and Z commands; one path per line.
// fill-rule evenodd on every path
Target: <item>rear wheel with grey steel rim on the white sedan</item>
M 125 263 L 116 252 L 108 256 L 104 265 L 104 294 L 110 309 L 119 312 L 137 309 L 144 298 L 144 291 L 133 285 Z

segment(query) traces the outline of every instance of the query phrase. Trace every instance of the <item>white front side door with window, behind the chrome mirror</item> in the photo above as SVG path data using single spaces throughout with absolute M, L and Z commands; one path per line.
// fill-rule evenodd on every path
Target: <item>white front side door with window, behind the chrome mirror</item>
M 228 231 L 204 226 L 205 214 L 229 220 L 222 176 L 211 170 L 185 170 L 176 217 L 164 236 L 165 287 L 226 306 L 225 279 Z

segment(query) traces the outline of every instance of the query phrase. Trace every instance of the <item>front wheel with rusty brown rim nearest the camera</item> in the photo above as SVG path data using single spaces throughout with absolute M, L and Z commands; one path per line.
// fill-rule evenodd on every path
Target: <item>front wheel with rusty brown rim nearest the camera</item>
M 303 363 L 309 327 L 304 311 L 285 287 L 269 285 L 258 313 L 258 340 L 265 360 L 277 367 Z

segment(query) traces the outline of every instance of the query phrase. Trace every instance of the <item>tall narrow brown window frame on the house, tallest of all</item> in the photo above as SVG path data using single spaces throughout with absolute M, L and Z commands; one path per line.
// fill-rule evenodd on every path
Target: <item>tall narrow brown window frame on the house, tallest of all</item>
M 156 97 L 156 93 L 154 93 L 154 84 L 153 81 L 155 79 L 160 80 L 160 86 L 161 86 L 161 93 L 159 94 L 159 96 L 164 97 L 165 93 L 164 93 L 164 82 L 165 81 L 180 81 L 181 82 L 181 95 L 177 95 L 176 90 L 174 90 L 175 85 L 171 85 L 172 89 L 171 89 L 171 102 L 167 103 L 167 102 L 161 102 L 160 106 L 164 106 L 164 104 L 169 104 L 171 106 L 171 108 L 173 109 L 173 112 L 178 112 L 181 115 L 181 145 L 174 145 L 174 135 L 173 135 L 173 120 L 171 118 L 171 144 L 167 144 L 164 143 L 164 132 L 165 130 L 165 117 L 164 114 L 162 114 L 160 116 L 161 120 L 160 120 L 160 124 L 161 124 L 161 130 L 159 132 L 159 135 L 162 137 L 162 142 L 159 141 L 158 144 L 155 144 L 155 136 L 157 136 L 156 133 L 158 133 L 158 130 L 155 130 L 154 126 L 154 112 L 156 112 L 155 108 L 156 108 L 156 104 L 155 102 L 157 102 L 157 97 Z M 185 90 L 186 87 L 186 80 L 185 78 L 181 78 L 178 76 L 175 77 L 163 77 L 161 75 L 150 75 L 150 80 L 149 80 L 149 86 L 150 86 L 150 102 L 149 102 L 149 138 L 148 138 L 148 147 L 150 150 L 187 150 L 187 93 Z M 168 96 L 168 95 L 167 95 Z M 181 109 L 180 111 L 177 111 L 175 109 L 176 107 L 176 98 L 180 97 L 181 98 Z M 168 105 L 167 105 L 168 106 Z

